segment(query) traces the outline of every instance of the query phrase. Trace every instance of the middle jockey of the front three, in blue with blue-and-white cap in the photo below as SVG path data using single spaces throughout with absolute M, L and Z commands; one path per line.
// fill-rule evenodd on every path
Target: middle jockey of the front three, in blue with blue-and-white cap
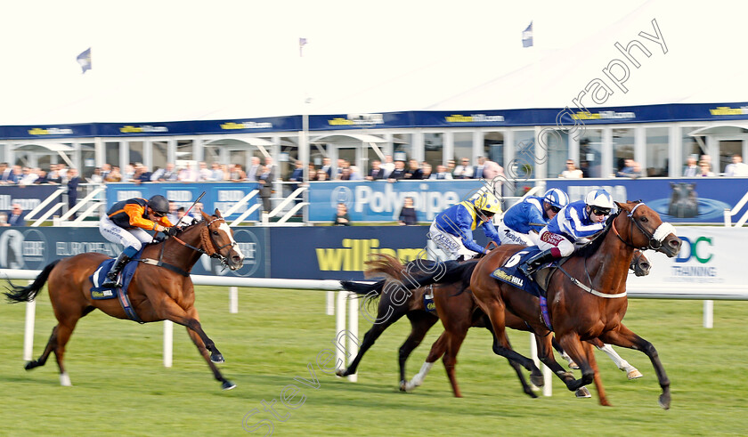
M 501 243 L 535 246 L 538 232 L 558 211 L 569 204 L 569 196 L 552 188 L 540 196 L 526 196 L 511 206 L 496 226 Z

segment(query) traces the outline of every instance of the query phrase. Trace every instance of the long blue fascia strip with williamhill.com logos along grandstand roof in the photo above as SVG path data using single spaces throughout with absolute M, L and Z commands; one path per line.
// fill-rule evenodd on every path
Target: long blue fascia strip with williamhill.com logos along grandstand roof
M 673 121 L 745 120 L 748 102 L 672 103 L 661 105 L 581 109 L 492 109 L 405 111 L 366 114 L 330 114 L 309 117 L 311 131 L 340 131 L 396 127 L 523 126 Z M 559 121 L 561 120 L 561 121 Z M 302 130 L 301 116 L 194 120 L 143 123 L 90 123 L 79 125 L 0 126 L 0 139 L 133 137 L 190 134 L 253 134 Z

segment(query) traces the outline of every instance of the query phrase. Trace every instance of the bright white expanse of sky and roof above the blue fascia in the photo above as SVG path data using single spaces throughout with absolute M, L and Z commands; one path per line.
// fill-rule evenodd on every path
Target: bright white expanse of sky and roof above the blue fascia
M 632 38 L 653 54 L 606 106 L 748 101 L 748 2 L 2 0 L 0 14 L 0 125 L 561 108 Z M 638 36 L 653 19 L 667 54 Z

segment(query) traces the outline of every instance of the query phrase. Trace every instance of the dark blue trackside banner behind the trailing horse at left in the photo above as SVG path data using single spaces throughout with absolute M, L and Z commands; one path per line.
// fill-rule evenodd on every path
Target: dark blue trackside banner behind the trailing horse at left
M 268 268 L 267 230 L 232 228 L 244 254 L 238 271 L 224 269 L 218 260 L 202 255 L 191 273 L 196 275 L 264 278 Z M 41 270 L 54 260 L 85 252 L 116 257 L 123 247 L 104 239 L 98 228 L 0 228 L 0 268 Z

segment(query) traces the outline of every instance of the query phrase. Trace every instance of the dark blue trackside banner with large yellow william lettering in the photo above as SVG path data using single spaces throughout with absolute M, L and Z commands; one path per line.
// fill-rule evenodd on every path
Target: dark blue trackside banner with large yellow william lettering
M 363 279 L 370 254 L 426 255 L 428 226 L 270 228 L 271 278 Z

